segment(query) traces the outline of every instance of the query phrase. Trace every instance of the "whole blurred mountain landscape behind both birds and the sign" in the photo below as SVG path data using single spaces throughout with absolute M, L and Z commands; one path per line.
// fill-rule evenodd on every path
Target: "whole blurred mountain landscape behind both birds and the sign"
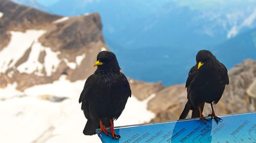
M 217 114 L 256 108 L 254 1 L 13 2 L 0 0 L 0 142 L 99 142 L 78 98 L 102 50 L 132 88 L 115 126 L 178 119 L 200 49 L 229 69 Z

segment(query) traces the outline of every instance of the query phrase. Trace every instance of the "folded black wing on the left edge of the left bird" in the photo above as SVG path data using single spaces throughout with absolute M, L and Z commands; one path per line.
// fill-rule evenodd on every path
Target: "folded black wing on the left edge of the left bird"
M 88 109 L 88 98 L 90 96 L 91 89 L 93 82 L 95 81 L 95 74 L 92 74 L 89 76 L 86 80 L 86 83 L 84 83 L 83 90 L 79 97 L 79 103 L 82 102 L 81 109 L 84 112 L 84 116 L 86 116 L 87 119 L 89 119 L 89 109 Z

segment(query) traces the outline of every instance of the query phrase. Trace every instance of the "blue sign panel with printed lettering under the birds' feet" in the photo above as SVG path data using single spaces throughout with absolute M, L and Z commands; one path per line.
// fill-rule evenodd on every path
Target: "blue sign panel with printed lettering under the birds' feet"
M 223 121 L 198 122 L 198 119 L 167 121 L 116 127 L 121 136 L 112 139 L 103 132 L 102 142 L 256 142 L 256 111 L 220 116 Z M 209 118 L 208 118 L 209 119 Z M 99 133 L 99 129 L 96 129 Z

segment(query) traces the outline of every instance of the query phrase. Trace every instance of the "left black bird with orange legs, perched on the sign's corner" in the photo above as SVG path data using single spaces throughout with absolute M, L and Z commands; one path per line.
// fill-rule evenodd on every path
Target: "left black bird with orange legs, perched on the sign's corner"
M 131 97 L 130 84 L 120 72 L 113 52 L 99 52 L 94 66 L 97 69 L 86 80 L 79 98 L 81 109 L 88 120 L 83 134 L 96 134 L 95 129 L 100 128 L 100 133 L 111 133 L 113 139 L 120 138 L 115 133 L 113 120 L 118 119 L 127 99 Z M 105 127 L 110 127 L 110 132 Z

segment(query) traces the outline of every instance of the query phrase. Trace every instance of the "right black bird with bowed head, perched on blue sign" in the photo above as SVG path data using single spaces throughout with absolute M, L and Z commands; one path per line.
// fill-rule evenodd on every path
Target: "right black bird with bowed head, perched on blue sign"
M 217 104 L 221 99 L 225 85 L 229 83 L 226 67 L 220 63 L 216 57 L 208 50 L 200 50 L 196 57 L 197 64 L 192 67 L 188 73 L 186 81 L 187 103 L 180 119 L 185 119 L 189 110 L 192 111 L 192 117 L 200 117 L 204 123 L 207 120 L 202 112 L 204 103 L 210 103 L 212 113 L 211 119 L 216 122 L 219 117 L 215 115 L 212 104 Z

